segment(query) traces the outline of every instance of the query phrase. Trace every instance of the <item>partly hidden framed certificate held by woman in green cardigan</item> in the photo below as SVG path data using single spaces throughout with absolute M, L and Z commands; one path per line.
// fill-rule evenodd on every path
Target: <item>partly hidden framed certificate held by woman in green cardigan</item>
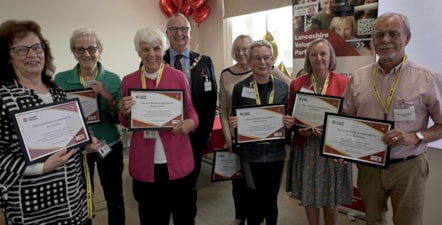
M 65 91 L 68 99 L 78 98 L 87 124 L 100 122 L 99 98 L 91 89 Z

